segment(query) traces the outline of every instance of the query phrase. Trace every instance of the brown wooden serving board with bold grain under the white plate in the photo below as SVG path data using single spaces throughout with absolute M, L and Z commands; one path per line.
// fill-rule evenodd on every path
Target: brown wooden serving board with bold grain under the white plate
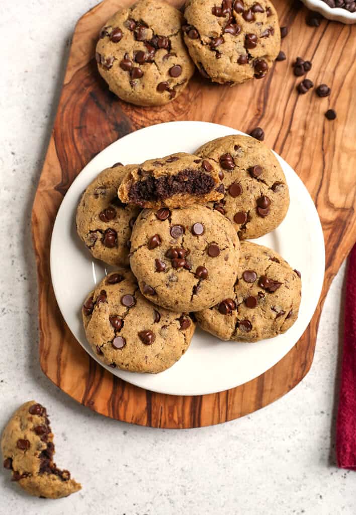
M 40 361 L 59 388 L 103 415 L 154 427 L 205 426 L 241 417 L 290 391 L 308 372 L 321 307 L 331 280 L 356 237 L 356 26 L 323 21 L 308 27 L 306 10 L 276 0 L 287 61 L 263 80 L 235 88 L 209 84 L 196 74 L 185 92 L 159 108 L 140 108 L 114 97 L 96 71 L 98 31 L 120 5 L 105 0 L 78 22 L 55 126 L 33 205 L 32 231 L 39 283 Z M 181 1 L 172 2 L 181 6 Z M 291 71 L 297 56 L 312 60 L 308 77 L 325 82 L 331 97 L 296 94 Z M 332 107 L 335 122 L 324 117 Z M 145 391 L 111 375 L 74 339 L 61 317 L 49 272 L 49 241 L 62 198 L 79 171 L 100 150 L 138 128 L 173 120 L 202 120 L 249 132 L 262 126 L 266 143 L 297 171 L 323 225 L 326 276 L 314 317 L 295 347 L 272 369 L 238 388 L 200 397 Z M 134 159 L 133 159 L 134 161 Z M 73 378 L 75 377 L 75 380 Z

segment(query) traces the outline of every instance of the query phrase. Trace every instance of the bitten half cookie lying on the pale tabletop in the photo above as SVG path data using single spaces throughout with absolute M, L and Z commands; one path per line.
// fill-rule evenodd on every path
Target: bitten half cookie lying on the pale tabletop
M 59 499 L 81 489 L 67 470 L 53 461 L 55 446 L 46 408 L 35 401 L 15 411 L 1 438 L 4 468 L 27 493 Z

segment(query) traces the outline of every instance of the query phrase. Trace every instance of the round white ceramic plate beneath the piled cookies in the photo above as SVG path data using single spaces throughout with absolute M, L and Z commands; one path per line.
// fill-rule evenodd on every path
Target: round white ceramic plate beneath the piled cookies
M 76 234 L 74 218 L 82 192 L 113 163 L 140 163 L 173 152 L 194 152 L 209 140 L 240 131 L 206 122 L 169 122 L 128 134 L 100 152 L 78 175 L 57 214 L 50 248 L 52 283 L 62 315 L 83 348 L 97 360 L 84 334 L 80 310 L 88 292 L 112 267 L 94 260 Z M 315 311 L 324 279 L 323 232 L 314 203 L 292 168 L 277 156 L 290 189 L 291 203 L 282 224 L 255 240 L 273 248 L 301 271 L 302 298 L 293 327 L 257 343 L 221 341 L 197 330 L 187 353 L 156 375 L 106 367 L 112 374 L 148 390 L 174 395 L 201 395 L 241 385 L 275 365 L 298 341 Z M 100 362 L 98 362 L 100 363 Z M 101 364 L 101 363 L 100 363 Z

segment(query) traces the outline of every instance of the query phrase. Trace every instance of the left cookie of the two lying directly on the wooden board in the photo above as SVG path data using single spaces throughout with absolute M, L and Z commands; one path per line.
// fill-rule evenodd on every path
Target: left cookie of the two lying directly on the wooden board
M 181 23 L 182 14 L 158 0 L 140 0 L 107 21 L 95 56 L 115 95 L 138 106 L 159 106 L 184 90 L 194 64 Z

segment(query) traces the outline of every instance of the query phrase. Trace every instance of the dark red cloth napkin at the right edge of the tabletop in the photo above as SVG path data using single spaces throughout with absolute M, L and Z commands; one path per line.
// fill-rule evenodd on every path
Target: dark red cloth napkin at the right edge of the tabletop
M 344 328 L 336 457 L 339 467 L 356 470 L 356 245 L 349 256 Z

